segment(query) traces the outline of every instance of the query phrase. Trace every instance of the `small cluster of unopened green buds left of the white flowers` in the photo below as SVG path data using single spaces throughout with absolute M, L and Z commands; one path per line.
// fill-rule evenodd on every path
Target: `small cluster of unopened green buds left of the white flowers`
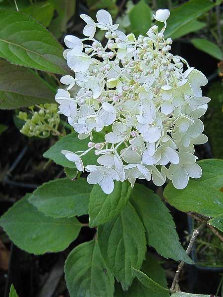
M 38 109 L 38 110 L 37 110 Z M 36 136 L 46 138 L 52 135 L 58 135 L 59 114 L 57 113 L 57 104 L 40 104 L 29 107 L 29 117 L 27 112 L 19 112 L 18 118 L 25 121 L 20 132 L 28 137 Z

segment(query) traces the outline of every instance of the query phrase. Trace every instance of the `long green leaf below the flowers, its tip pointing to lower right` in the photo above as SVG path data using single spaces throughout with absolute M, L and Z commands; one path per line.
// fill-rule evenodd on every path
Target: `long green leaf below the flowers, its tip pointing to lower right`
M 131 196 L 130 202 L 145 226 L 148 244 L 166 258 L 191 264 L 191 259 L 179 243 L 172 216 L 159 196 L 139 184 L 135 185 Z

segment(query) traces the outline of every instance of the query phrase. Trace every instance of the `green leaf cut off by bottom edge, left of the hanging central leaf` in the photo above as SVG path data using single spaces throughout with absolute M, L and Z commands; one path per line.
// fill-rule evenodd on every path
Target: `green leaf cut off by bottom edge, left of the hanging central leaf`
M 97 240 L 75 247 L 65 262 L 70 297 L 112 297 L 114 278 L 101 256 Z

